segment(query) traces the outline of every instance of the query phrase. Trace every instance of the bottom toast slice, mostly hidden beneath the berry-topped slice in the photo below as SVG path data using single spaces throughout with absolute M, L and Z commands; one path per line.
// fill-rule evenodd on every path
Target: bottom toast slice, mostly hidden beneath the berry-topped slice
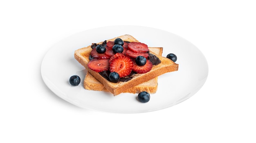
M 163 48 L 162 47 L 149 47 L 149 50 L 154 52 L 157 55 L 162 56 Z M 157 91 L 157 77 L 146 82 L 143 82 L 135 87 L 131 87 L 130 89 L 124 91 L 125 93 L 140 93 L 142 91 L 146 91 L 148 93 L 156 93 Z M 99 82 L 96 78 L 94 78 L 89 72 L 85 75 L 85 79 L 83 82 L 83 86 L 87 90 L 94 91 L 108 91 L 106 87 Z

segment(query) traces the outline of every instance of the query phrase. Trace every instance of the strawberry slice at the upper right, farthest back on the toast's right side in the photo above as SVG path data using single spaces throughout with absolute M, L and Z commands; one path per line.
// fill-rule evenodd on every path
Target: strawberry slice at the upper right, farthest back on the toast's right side
M 140 42 L 130 42 L 128 43 L 128 50 L 136 53 L 148 52 L 148 45 Z

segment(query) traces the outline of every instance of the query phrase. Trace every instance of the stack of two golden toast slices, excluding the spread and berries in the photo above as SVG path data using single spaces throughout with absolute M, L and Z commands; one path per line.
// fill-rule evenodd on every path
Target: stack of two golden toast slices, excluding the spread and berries
M 108 41 L 115 41 L 115 39 L 120 38 L 123 41 L 128 42 L 139 42 L 137 39 L 131 35 L 122 35 L 109 39 Z M 97 44 L 102 44 L 99 42 Z M 89 63 L 89 56 L 92 51 L 91 45 L 85 48 L 75 50 L 74 57 L 87 69 L 87 74 L 84 79 L 84 88 L 87 90 L 95 91 L 109 91 L 114 96 L 119 95 L 120 93 L 139 93 L 141 91 L 146 91 L 148 93 L 156 93 L 157 91 L 157 77 L 167 73 L 178 70 L 178 64 L 174 63 L 168 58 L 162 56 L 163 48 L 162 47 L 149 47 L 149 52 L 157 56 L 160 59 L 161 63 L 158 65 L 153 65 L 152 69 L 145 74 L 135 74 L 132 75 L 132 79 L 126 82 L 119 81 L 117 83 L 110 82 L 98 72 L 94 72 L 88 68 L 87 64 Z

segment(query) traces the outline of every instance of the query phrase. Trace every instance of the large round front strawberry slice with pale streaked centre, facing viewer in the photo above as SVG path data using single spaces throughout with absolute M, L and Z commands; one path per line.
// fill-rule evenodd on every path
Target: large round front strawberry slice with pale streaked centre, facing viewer
M 117 56 L 110 63 L 110 72 L 117 72 L 120 78 L 132 72 L 133 63 L 128 56 Z

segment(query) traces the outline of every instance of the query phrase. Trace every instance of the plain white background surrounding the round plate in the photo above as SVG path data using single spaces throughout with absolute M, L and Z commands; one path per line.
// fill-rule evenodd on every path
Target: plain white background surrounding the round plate
M 1 143 L 255 143 L 254 0 L 9 0 L 0 2 Z M 44 84 L 54 43 L 91 28 L 148 26 L 177 34 L 207 58 L 198 93 L 160 111 L 76 107 Z

